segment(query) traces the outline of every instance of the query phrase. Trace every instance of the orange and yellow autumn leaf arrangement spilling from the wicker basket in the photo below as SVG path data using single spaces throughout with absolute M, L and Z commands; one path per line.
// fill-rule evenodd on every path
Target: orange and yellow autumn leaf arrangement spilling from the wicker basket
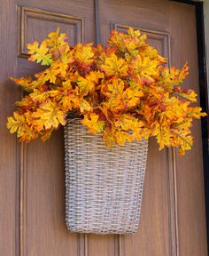
M 45 69 L 13 79 L 27 93 L 8 117 L 10 132 L 17 132 L 20 142 L 44 141 L 73 116 L 89 132 L 102 133 L 108 147 L 154 136 L 159 149 L 176 147 L 184 155 L 193 143 L 192 120 L 205 113 L 193 106 L 196 92 L 179 85 L 188 65 L 167 68 L 146 37 L 132 28 L 128 34 L 112 30 L 106 47 L 72 47 L 58 29 L 41 44 L 27 44 L 28 60 Z

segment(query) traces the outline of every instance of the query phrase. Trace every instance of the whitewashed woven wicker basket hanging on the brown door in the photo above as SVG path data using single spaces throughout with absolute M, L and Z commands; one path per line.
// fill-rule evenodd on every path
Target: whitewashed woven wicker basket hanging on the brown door
M 135 233 L 148 141 L 107 148 L 80 119 L 65 127 L 66 226 L 72 232 Z

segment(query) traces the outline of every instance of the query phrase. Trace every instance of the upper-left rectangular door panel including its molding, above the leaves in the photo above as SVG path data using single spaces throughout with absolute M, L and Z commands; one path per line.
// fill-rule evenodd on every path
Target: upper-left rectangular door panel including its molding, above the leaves
M 84 41 L 84 18 L 58 12 L 18 6 L 18 56 L 27 58 L 27 44 L 42 41 L 51 31 L 59 27 L 68 36 L 69 44 Z

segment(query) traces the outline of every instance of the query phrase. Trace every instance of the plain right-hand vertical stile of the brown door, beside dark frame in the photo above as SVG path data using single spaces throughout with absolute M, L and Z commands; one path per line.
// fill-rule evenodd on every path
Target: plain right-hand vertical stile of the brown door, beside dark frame
M 171 58 L 174 65 L 181 66 L 185 60 L 190 65 L 190 76 L 185 87 L 199 91 L 197 67 L 197 35 L 193 6 L 173 3 L 171 8 Z M 181 54 L 176 54 L 176 49 Z M 202 162 L 201 124 L 192 127 L 195 141 L 192 150 L 176 158 L 177 208 L 180 255 L 206 255 L 205 201 Z M 200 224 L 202 223 L 202 224 Z

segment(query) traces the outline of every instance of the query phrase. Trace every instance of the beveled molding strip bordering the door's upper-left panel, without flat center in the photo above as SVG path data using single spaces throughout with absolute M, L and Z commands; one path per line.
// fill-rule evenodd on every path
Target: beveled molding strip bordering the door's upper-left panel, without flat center
M 71 15 L 66 15 L 59 12 L 50 12 L 45 11 L 42 9 L 37 8 L 31 8 L 26 6 L 17 6 L 18 9 L 18 57 L 20 58 L 28 58 L 29 54 L 25 50 L 26 45 L 26 35 L 27 35 L 27 23 L 26 18 L 28 16 L 31 17 L 31 14 L 38 14 L 40 15 L 40 18 L 42 18 L 42 15 L 48 15 L 49 19 L 40 19 L 40 20 L 50 20 L 51 17 L 56 17 L 57 19 L 60 19 L 59 21 L 62 21 L 61 19 L 69 20 L 68 24 L 76 26 L 79 22 L 81 22 L 81 43 L 84 42 L 84 31 L 85 31 L 85 18 L 83 17 L 76 17 Z M 28 15 L 30 13 L 30 15 Z M 62 22 L 61 22 L 62 23 Z M 63 22 L 66 23 L 66 22 Z

